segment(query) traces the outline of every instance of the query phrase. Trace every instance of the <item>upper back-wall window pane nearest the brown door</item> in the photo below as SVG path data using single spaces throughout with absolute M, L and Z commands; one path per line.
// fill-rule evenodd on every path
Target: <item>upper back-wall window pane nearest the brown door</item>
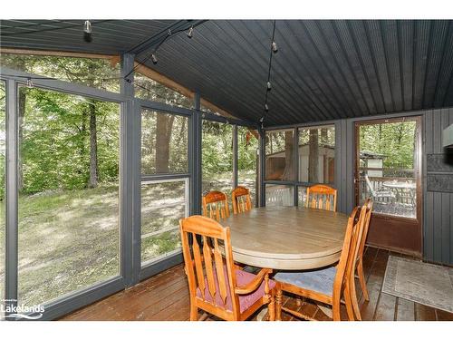
M 320 126 L 299 129 L 299 181 L 325 183 L 335 181 L 335 128 Z

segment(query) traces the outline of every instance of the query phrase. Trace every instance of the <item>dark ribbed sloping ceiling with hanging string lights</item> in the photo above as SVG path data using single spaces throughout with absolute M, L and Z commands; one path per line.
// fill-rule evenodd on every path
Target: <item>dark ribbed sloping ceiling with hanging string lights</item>
M 43 26 L 26 24 L 45 24 L 49 30 L 30 33 Z M 0 44 L 124 53 L 171 24 L 94 21 L 93 41 L 85 43 L 81 21 L 3 20 Z M 266 20 L 207 21 L 192 39 L 172 36 L 159 47 L 159 62 L 147 65 L 227 112 L 259 121 L 272 28 Z M 278 20 L 275 42 L 266 125 L 453 106 L 453 21 Z

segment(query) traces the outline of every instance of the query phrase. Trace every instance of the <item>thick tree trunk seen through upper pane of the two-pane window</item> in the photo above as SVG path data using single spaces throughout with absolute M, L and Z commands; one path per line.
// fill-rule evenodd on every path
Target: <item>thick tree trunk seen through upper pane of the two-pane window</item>
M 175 116 L 157 114 L 156 119 L 156 172 L 169 172 L 169 143 Z

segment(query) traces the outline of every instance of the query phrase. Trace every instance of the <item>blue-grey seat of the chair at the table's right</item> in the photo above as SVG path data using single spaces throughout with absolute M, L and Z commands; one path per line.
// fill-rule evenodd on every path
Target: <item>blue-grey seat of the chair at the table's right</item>
M 335 279 L 336 272 L 336 267 L 327 267 L 321 270 L 303 272 L 282 271 L 277 273 L 274 279 L 303 289 L 313 290 L 327 296 L 333 296 L 333 280 Z

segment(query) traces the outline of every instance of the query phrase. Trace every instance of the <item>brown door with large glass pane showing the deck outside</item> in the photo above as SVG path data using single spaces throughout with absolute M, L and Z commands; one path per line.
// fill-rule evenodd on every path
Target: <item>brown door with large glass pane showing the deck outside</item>
M 419 117 L 355 123 L 355 201 L 373 199 L 367 243 L 421 255 Z

